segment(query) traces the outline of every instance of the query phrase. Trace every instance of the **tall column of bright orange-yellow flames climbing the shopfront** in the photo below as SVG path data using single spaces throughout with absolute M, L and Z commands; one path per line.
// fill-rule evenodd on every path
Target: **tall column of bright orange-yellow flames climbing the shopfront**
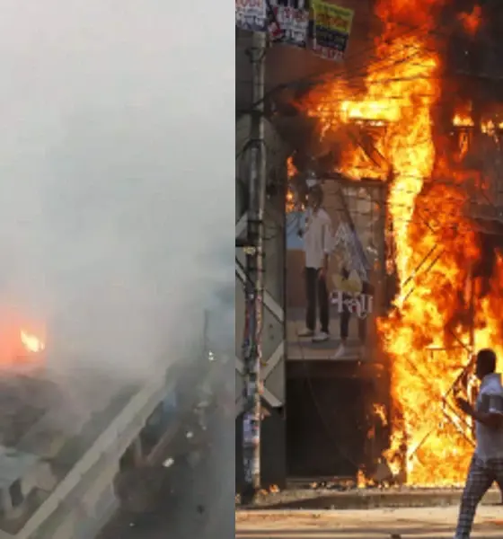
M 377 324 L 392 370 L 392 444 L 384 456 L 393 473 L 405 472 L 407 482 L 421 485 L 463 480 L 472 425 L 458 417 L 453 386 L 473 344 L 481 348 L 500 340 L 503 296 L 501 257 L 489 291 L 482 290 L 481 279 L 475 278 L 472 288 L 468 284 L 481 250 L 463 215 L 466 174 L 451 170 L 434 133 L 441 61 L 429 32 L 435 28 L 434 11 L 443 4 L 378 1 L 376 13 L 385 31 L 375 44 L 365 91 L 358 94 L 352 81 L 337 79 L 302 103 L 318 119 L 324 142 L 330 144 L 332 137 L 345 141 L 340 172 L 356 180 L 390 181 L 400 293 L 392 312 Z M 480 20 L 480 11 L 475 8 L 462 19 L 467 31 L 476 31 L 473 21 Z M 397 31 L 401 24 L 416 30 Z M 473 126 L 470 111 L 456 114 L 453 124 Z M 369 158 L 363 144 L 354 144 L 362 125 L 372 133 L 379 159 Z

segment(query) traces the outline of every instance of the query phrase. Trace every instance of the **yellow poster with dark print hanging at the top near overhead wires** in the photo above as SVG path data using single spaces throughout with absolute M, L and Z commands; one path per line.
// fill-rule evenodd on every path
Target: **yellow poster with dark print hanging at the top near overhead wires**
M 340 60 L 348 47 L 354 11 L 314 0 L 313 50 L 321 57 Z

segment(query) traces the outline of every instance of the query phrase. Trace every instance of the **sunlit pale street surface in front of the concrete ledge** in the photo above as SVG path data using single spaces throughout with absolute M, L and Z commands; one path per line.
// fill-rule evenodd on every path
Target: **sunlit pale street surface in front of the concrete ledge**
M 453 539 L 457 508 L 237 511 L 236 539 Z M 501 506 L 481 507 L 472 539 L 503 537 Z M 223 538 L 224 539 L 224 538 Z

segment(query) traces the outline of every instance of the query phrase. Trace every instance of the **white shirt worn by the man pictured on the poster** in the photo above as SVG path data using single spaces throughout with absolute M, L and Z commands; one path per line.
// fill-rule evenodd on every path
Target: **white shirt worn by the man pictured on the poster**
M 305 267 L 319 270 L 323 266 L 323 258 L 330 254 L 333 245 L 331 218 L 323 209 L 313 212 L 308 208 L 305 212 L 304 253 Z

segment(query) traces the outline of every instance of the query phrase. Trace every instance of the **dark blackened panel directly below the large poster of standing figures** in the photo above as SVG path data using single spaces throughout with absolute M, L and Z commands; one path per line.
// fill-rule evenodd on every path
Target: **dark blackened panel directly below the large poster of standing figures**
M 389 432 L 374 404 L 389 410 L 389 380 L 378 364 L 357 361 L 287 363 L 289 477 L 356 478 L 372 471 Z

